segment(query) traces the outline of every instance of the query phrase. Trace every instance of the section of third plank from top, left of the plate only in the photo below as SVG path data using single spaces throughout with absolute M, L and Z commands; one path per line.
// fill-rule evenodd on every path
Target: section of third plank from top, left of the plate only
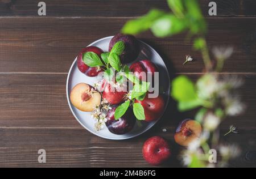
M 65 96 L 66 75 L 0 75 L 1 127 L 78 127 Z

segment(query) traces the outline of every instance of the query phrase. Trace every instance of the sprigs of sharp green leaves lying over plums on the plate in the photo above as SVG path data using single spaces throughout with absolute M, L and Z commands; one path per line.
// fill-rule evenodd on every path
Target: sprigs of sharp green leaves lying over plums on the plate
M 134 84 L 133 90 L 131 91 L 131 98 L 125 101 L 125 103 L 119 105 L 115 109 L 114 118 L 118 120 L 127 111 L 130 103 L 133 104 L 133 113 L 138 120 L 145 120 L 144 108 L 140 103 L 135 103 L 135 99 L 142 101 L 146 96 L 150 83 L 142 82 L 137 76 L 130 73 L 129 66 L 122 65 L 120 55 L 125 49 L 123 41 L 118 41 L 114 44 L 110 52 L 104 52 L 99 57 L 94 52 L 86 52 L 83 54 L 82 61 L 89 67 L 101 66 L 104 69 L 104 78 L 111 82 L 114 78 L 115 71 L 119 72 L 115 76 L 117 83 L 124 83 L 126 79 L 130 80 Z

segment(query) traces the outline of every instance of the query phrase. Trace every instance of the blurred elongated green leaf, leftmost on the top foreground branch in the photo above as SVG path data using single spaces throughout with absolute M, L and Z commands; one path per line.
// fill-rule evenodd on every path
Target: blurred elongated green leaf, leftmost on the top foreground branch
M 122 32 L 126 34 L 136 35 L 143 31 L 147 31 L 151 27 L 152 23 L 155 22 L 155 20 L 159 19 L 165 14 L 166 12 L 162 10 L 152 9 L 145 16 L 139 19 L 129 20 L 123 26 Z

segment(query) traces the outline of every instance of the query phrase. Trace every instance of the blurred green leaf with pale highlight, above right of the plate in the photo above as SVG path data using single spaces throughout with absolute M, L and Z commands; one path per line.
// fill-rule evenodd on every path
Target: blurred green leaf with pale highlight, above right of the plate
M 183 32 L 186 28 L 186 19 L 168 14 L 156 20 L 151 26 L 151 31 L 156 37 L 166 37 Z

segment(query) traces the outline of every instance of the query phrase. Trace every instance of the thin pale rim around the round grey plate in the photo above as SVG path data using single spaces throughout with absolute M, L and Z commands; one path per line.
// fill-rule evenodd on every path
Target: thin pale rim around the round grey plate
M 97 42 L 99 41 L 102 41 L 102 40 L 105 40 L 105 39 L 109 39 L 109 38 L 113 38 L 114 36 L 107 36 L 107 37 L 103 37 L 101 39 L 98 39 L 92 43 L 90 43 L 89 45 L 87 46 L 92 46 L 93 44 L 96 44 Z M 152 46 L 148 45 L 146 42 L 143 42 L 142 40 L 139 40 L 138 41 L 142 42 L 144 45 L 148 46 L 150 48 L 150 50 L 152 50 L 154 53 L 156 53 L 160 59 L 162 59 L 163 61 L 163 58 L 160 56 L 160 54 L 158 52 L 156 52 L 156 50 L 154 48 L 152 48 Z M 86 46 L 86 47 L 87 47 Z M 109 140 L 126 140 L 126 139 L 131 139 L 131 138 L 135 138 L 135 137 L 138 137 L 139 135 L 143 134 L 143 133 L 146 133 L 146 131 L 148 131 L 149 129 L 151 129 L 162 117 L 163 117 L 163 114 L 166 112 L 166 109 L 167 109 L 167 106 L 168 106 L 168 103 L 169 103 L 169 100 L 170 100 L 170 90 L 168 91 L 168 99 L 166 101 L 166 106 L 164 107 L 164 112 L 162 113 L 162 115 L 158 118 L 158 120 L 154 121 L 154 123 L 152 123 L 152 125 L 150 126 L 147 126 L 143 131 L 139 132 L 138 134 L 135 134 L 135 135 L 131 135 L 129 137 L 123 137 L 123 138 L 112 138 L 112 137 L 105 137 L 104 135 L 101 135 L 101 134 L 98 134 L 96 131 L 92 131 L 90 129 L 88 129 L 88 127 L 86 127 L 76 116 L 75 112 L 73 111 L 72 109 L 72 106 L 71 106 L 71 102 L 70 102 L 70 99 L 69 99 L 69 91 L 68 91 L 68 84 L 69 84 L 69 77 L 71 75 L 71 72 L 72 72 L 72 69 L 73 69 L 73 66 L 75 65 L 77 61 L 77 56 L 75 58 L 75 60 L 73 61 L 69 71 L 68 71 L 68 76 L 67 76 L 67 82 L 66 82 L 66 96 L 67 96 L 67 101 L 68 101 L 68 106 L 69 106 L 69 109 L 71 110 L 72 114 L 73 114 L 73 117 L 76 118 L 76 121 L 78 121 L 80 123 L 80 125 L 82 127 L 84 127 L 86 130 L 88 130 L 90 133 L 100 137 L 100 138 L 104 138 L 104 139 L 109 139 Z M 164 63 L 164 61 L 163 61 Z M 166 63 L 164 63 L 164 65 L 166 66 Z M 167 69 L 167 66 L 166 66 L 166 69 Z M 169 71 L 167 71 L 167 77 L 168 77 L 168 81 L 169 81 L 169 85 L 168 85 L 168 89 L 170 89 L 171 87 L 171 82 L 170 82 L 170 74 L 169 74 Z

